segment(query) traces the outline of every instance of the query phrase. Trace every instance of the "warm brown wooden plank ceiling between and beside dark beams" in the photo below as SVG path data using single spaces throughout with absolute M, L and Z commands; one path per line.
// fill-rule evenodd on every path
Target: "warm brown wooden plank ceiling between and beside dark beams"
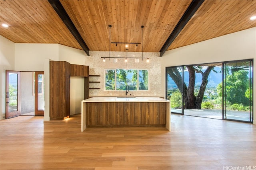
M 60 0 L 90 51 L 126 51 L 142 43 L 160 52 L 192 0 Z M 59 43 L 82 49 L 46 0 L 1 0 L 0 34 L 15 43 Z M 256 27 L 255 0 L 204 1 L 168 50 Z M 2 23 L 10 25 L 5 28 Z M 108 25 L 112 25 L 111 28 Z M 143 34 L 141 25 L 144 25 Z M 111 31 L 111 36 L 109 35 Z M 142 51 L 142 44 L 129 44 Z

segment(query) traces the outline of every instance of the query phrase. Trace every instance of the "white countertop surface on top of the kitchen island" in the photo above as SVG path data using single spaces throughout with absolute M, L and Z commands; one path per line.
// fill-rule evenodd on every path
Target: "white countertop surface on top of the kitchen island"
M 170 102 L 159 97 L 92 97 L 82 102 Z

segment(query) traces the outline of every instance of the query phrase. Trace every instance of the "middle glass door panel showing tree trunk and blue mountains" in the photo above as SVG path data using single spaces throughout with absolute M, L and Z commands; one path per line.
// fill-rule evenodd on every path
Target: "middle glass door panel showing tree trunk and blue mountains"
M 186 66 L 184 70 L 184 115 L 222 119 L 222 63 Z M 193 93 L 191 93 L 193 90 Z

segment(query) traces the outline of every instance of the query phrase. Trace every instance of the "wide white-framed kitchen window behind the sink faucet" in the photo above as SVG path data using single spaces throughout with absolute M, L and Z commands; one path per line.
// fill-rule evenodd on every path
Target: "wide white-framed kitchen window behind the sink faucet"
M 148 70 L 106 69 L 105 90 L 148 90 Z

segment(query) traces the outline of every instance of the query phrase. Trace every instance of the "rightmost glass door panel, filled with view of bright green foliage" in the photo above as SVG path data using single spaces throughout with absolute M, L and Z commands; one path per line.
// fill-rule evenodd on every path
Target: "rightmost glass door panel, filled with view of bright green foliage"
M 223 65 L 223 119 L 252 122 L 252 61 Z

